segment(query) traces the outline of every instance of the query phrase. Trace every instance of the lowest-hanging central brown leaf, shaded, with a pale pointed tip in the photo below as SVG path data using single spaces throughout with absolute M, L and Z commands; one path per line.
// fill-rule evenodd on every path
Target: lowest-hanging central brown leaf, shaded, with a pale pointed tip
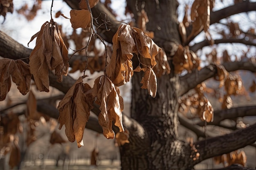
M 59 129 L 65 124 L 67 139 L 71 142 L 76 140 L 79 148 L 83 146 L 83 131 L 93 108 L 94 99 L 90 91 L 90 86 L 83 84 L 82 77 L 79 77 L 58 105 Z

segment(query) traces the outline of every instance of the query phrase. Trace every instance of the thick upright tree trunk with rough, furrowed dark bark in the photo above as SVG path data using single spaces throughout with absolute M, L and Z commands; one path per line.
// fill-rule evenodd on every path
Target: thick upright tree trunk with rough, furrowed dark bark
M 148 31 L 154 31 L 154 42 L 165 48 L 167 57 L 172 46 L 166 44 L 179 43 L 175 0 L 128 1 L 128 7 L 134 4 L 141 8 L 145 5 L 149 22 Z M 144 4 L 143 4 L 144 3 Z M 169 11 L 169 13 L 168 13 Z M 136 11 L 133 11 L 136 15 Z M 136 16 L 135 16 L 136 18 Z M 135 63 L 135 61 L 133 61 Z M 171 69 L 173 64 L 169 61 Z M 136 65 L 136 64 L 135 64 Z M 130 133 L 130 144 L 120 148 L 121 167 L 123 170 L 174 170 L 189 167 L 189 150 L 178 138 L 178 76 L 173 72 L 157 77 L 157 95 L 152 98 L 148 91 L 141 89 L 143 72 L 134 73 L 132 77 L 131 117 L 144 129 Z M 192 166 L 191 166 L 192 168 Z

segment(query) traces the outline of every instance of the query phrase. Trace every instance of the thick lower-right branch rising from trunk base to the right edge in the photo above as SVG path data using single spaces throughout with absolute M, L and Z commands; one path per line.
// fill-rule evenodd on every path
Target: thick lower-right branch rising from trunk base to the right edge
M 191 163 L 195 165 L 205 159 L 226 154 L 253 144 L 256 141 L 255 128 L 256 124 L 227 135 L 195 142 L 195 148 L 198 150 L 200 156 L 195 161 L 191 160 Z M 191 151 L 191 154 L 195 155 L 195 152 Z

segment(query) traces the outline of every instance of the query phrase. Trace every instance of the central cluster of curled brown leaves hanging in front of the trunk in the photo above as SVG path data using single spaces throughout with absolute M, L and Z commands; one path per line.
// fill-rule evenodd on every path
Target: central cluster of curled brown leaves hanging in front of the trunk
M 141 88 L 148 89 L 152 97 L 156 95 L 156 75 L 152 68 L 156 65 L 155 56 L 161 49 L 143 31 L 129 25 L 119 26 L 112 42 L 113 52 L 104 75 L 95 79 L 93 88 L 84 84 L 82 77 L 79 77 L 58 106 L 59 128 L 65 124 L 68 139 L 72 142 L 76 140 L 78 147 L 83 145 L 83 130 L 95 98 L 95 103 L 100 105 L 99 124 L 103 128 L 103 135 L 108 139 L 115 137 L 112 121 L 120 132 L 124 132 L 121 113 L 124 102 L 117 86 L 129 82 L 133 71 L 144 71 Z M 144 58 L 148 65 L 141 63 L 142 68 L 138 66 L 133 69 L 133 53 Z

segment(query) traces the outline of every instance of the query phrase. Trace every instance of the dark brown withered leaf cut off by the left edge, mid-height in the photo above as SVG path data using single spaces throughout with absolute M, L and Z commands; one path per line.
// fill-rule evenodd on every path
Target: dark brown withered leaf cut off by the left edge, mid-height
M 22 95 L 29 92 L 31 81 L 29 65 L 21 60 L 4 58 L 0 62 L 0 101 L 4 100 L 10 91 L 10 76 Z

